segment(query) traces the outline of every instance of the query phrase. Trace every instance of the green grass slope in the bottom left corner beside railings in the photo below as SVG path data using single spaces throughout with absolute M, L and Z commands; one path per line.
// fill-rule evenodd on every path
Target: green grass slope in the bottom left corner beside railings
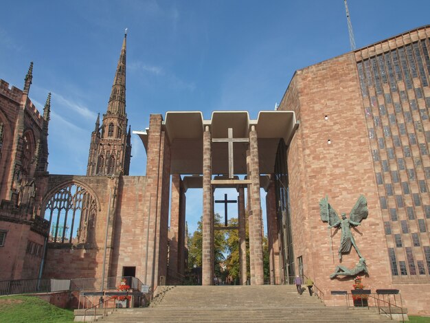
M 71 323 L 73 311 L 32 296 L 0 297 L 1 323 Z

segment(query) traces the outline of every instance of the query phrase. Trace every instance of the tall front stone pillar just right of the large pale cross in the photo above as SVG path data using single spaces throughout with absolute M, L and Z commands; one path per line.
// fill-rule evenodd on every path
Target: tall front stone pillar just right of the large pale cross
M 249 131 L 249 173 L 251 179 L 251 210 L 253 234 L 249 236 L 249 242 L 253 241 L 253 263 L 255 285 L 264 285 L 263 271 L 263 246 L 262 246 L 262 212 L 260 202 L 260 165 L 258 161 L 258 137 L 255 126 Z

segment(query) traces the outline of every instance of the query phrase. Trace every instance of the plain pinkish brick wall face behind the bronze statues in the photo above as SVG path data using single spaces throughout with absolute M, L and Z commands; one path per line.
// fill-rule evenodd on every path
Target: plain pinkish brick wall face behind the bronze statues
M 350 280 L 330 280 L 329 276 L 337 265 L 353 268 L 359 256 L 352 248 L 339 263 L 341 232 L 330 239 L 328 225 L 319 215 L 319 199 L 327 194 L 339 215 L 349 215 L 364 194 L 370 215 L 352 230 L 370 272 L 364 283 L 373 290 L 392 287 L 354 55 L 297 71 L 281 107 L 297 106 L 300 126 L 288 151 L 295 258 L 303 256 L 304 273 L 324 291 L 328 304 L 332 302 L 330 290 L 352 289 Z

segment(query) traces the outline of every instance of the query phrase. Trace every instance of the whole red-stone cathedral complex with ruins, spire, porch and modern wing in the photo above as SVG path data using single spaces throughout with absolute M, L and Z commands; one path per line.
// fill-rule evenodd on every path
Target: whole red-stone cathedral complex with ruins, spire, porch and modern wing
M 304 274 L 326 304 L 339 304 L 330 291 L 349 291 L 353 280 L 330 275 L 364 263 L 366 288 L 400 289 L 409 313 L 430 314 L 429 51 L 425 26 L 300 69 L 278 109 L 256 119 L 247 111 L 214 111 L 210 120 L 153 114 L 146 131 L 135 131 L 146 176 L 128 176 L 126 37 L 85 176 L 47 172 L 50 96 L 41 115 L 28 98 L 32 66 L 23 91 L 1 80 L 0 280 L 135 276 L 152 287 L 177 284 L 187 258 L 186 192 L 202 188 L 202 278 L 212 285 L 214 230 L 222 229 L 214 226 L 214 191 L 228 187 L 238 191 L 240 283 L 262 285 L 264 188 L 267 281 Z M 351 223 L 361 195 L 368 216 L 349 231 L 321 220 L 327 198 Z M 347 234 L 350 252 L 338 254 Z

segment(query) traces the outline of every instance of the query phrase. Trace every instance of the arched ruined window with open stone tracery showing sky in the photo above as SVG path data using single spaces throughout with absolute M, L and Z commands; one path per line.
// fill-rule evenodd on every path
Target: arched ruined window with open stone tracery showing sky
M 45 219 L 49 221 L 49 241 L 55 243 L 93 243 L 90 241 L 97 205 L 89 191 L 76 183 L 57 190 L 47 201 Z

